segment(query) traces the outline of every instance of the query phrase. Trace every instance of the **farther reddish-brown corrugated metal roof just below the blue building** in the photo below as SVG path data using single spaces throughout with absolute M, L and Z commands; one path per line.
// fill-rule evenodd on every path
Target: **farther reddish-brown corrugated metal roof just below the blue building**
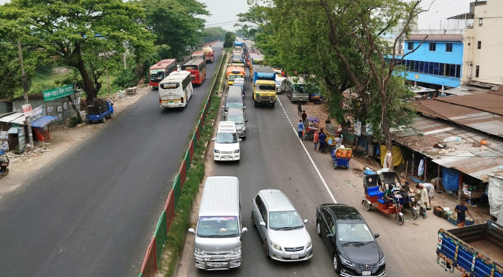
M 472 109 L 470 107 L 444 101 L 446 98 L 454 99 L 461 97 L 463 96 L 418 101 L 414 103 L 414 107 L 419 114 L 424 116 L 450 120 L 459 125 L 477 129 L 486 134 L 503 137 L 503 116 L 493 114 L 490 111 L 480 111 L 478 109 Z M 479 95 L 479 97 L 481 97 L 481 95 Z M 501 105 L 503 105 L 503 103 Z

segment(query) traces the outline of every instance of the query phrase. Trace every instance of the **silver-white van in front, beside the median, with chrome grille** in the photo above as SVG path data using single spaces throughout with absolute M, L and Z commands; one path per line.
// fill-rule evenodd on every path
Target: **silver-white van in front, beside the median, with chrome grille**
M 225 270 L 241 265 L 241 235 L 248 229 L 241 222 L 239 179 L 212 176 L 205 181 L 194 240 L 198 269 Z

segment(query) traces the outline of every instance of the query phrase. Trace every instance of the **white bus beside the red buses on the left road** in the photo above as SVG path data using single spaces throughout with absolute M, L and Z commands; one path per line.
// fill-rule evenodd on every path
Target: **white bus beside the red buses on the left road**
M 174 71 L 159 83 L 159 105 L 161 108 L 186 107 L 193 92 L 191 73 Z

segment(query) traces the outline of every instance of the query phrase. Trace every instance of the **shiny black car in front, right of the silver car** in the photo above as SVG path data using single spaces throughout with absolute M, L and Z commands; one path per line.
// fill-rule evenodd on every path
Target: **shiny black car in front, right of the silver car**
M 336 273 L 343 277 L 386 276 L 386 260 L 375 241 L 379 235 L 370 231 L 356 208 L 344 204 L 318 206 L 316 233 L 332 253 Z

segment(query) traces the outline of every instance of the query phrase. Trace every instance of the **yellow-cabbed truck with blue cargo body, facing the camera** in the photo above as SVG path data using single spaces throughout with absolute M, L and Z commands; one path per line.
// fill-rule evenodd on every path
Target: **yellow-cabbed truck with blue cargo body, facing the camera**
M 276 74 L 270 66 L 253 66 L 253 102 L 274 107 L 276 103 Z

